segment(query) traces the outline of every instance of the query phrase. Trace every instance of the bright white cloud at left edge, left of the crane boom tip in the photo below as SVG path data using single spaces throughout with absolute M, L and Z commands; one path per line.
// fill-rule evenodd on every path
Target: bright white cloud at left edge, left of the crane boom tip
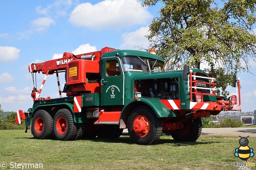
M 11 62 L 18 59 L 20 49 L 16 47 L 0 46 L 0 62 Z

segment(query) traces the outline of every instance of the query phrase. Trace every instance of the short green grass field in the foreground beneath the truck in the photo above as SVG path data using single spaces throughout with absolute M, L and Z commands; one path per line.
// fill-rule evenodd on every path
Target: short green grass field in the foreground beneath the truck
M 196 142 L 178 143 L 170 136 L 161 136 L 156 144 L 143 146 L 132 143 L 129 136 L 104 140 L 36 140 L 30 131 L 0 130 L 0 162 L 6 162 L 7 169 L 11 168 L 10 162 L 16 162 L 43 164 L 46 170 L 235 170 L 238 167 L 234 162 L 245 162 L 234 156 L 235 148 L 240 146 L 239 139 L 238 136 L 201 136 Z M 256 137 L 248 140 L 248 146 L 256 153 Z M 256 156 L 248 162 L 256 163 Z

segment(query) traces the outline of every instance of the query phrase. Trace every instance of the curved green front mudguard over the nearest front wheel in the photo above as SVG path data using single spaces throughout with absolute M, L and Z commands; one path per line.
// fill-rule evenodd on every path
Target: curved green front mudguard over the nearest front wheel
M 126 128 L 129 115 L 132 113 L 132 110 L 138 106 L 149 107 L 155 113 L 157 118 L 176 117 L 174 112 L 164 105 L 164 103 L 162 103 L 160 100 L 161 99 L 159 98 L 153 97 L 141 97 L 137 100 L 130 100 L 122 109 L 120 116 L 120 128 Z

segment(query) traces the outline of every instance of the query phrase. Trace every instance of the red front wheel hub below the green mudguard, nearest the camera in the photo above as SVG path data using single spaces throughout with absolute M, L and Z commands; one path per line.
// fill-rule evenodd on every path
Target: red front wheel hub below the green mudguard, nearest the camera
M 139 137 L 144 137 L 149 132 L 149 121 L 145 116 L 139 115 L 133 121 L 133 130 Z

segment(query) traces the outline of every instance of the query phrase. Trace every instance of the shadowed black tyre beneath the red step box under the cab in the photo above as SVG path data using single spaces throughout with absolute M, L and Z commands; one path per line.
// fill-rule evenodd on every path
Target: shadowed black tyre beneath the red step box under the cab
M 98 128 L 97 136 L 98 138 L 118 138 L 122 132 L 123 129 L 120 129 L 117 125 L 107 125 Z

